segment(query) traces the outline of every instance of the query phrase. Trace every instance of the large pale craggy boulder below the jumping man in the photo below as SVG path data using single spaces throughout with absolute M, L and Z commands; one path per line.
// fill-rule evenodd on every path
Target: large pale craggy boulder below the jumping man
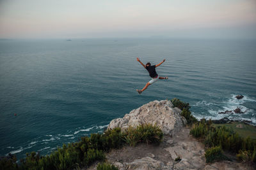
M 136 110 L 132 110 L 124 118 L 112 120 L 108 125 L 108 129 L 120 127 L 124 130 L 129 126 L 136 127 L 140 124 L 150 123 L 159 125 L 164 134 L 172 135 L 187 123 L 186 118 L 182 117 L 180 113 L 181 110 L 173 108 L 171 101 L 152 101 Z

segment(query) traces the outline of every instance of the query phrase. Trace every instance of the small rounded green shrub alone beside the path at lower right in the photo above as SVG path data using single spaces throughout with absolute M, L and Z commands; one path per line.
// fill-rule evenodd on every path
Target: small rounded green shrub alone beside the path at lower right
M 221 146 L 215 146 L 207 149 L 205 152 L 205 159 L 206 159 L 206 162 L 228 160 L 228 158 L 225 155 L 223 155 L 223 150 L 221 149 Z

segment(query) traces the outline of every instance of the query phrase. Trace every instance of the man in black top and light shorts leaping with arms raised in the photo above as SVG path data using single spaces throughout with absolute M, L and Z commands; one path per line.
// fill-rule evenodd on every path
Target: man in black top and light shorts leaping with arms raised
M 139 94 L 141 94 L 144 90 L 146 90 L 148 88 L 148 85 L 152 85 L 154 82 L 156 82 L 158 79 L 168 79 L 168 77 L 161 77 L 158 76 L 158 74 L 156 73 L 156 67 L 160 66 L 161 64 L 163 64 L 163 62 L 165 61 L 165 59 L 160 62 L 159 64 L 156 64 L 154 66 L 151 66 L 150 62 L 148 62 L 146 64 L 146 66 L 140 61 L 140 59 L 137 57 L 138 62 L 140 62 L 140 64 L 145 67 L 145 69 L 147 69 L 149 76 L 152 78 L 150 81 L 148 81 L 148 83 L 145 85 L 145 87 L 142 90 L 138 90 L 137 92 Z

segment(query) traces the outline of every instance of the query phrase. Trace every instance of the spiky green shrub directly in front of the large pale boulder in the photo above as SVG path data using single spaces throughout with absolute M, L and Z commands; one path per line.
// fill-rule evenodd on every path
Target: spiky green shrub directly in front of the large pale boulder
M 159 144 L 163 139 L 163 131 L 156 124 L 141 124 L 137 127 L 136 131 L 138 131 L 140 141 L 147 144 Z

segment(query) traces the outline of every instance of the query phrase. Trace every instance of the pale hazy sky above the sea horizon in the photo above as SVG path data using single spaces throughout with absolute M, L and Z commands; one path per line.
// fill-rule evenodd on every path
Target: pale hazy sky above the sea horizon
M 256 39 L 256 0 L 0 0 L 0 38 Z

